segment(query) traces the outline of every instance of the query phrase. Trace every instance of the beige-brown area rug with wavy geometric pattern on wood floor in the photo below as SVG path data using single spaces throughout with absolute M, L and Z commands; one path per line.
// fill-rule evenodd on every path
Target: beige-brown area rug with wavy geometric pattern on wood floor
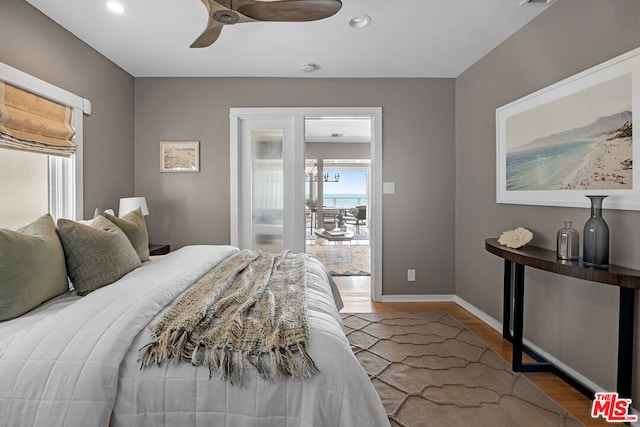
M 341 313 L 391 425 L 583 426 L 447 313 Z

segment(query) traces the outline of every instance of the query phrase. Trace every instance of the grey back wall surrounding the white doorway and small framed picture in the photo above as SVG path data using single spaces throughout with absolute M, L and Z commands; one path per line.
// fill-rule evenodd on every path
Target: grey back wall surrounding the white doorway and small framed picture
M 382 107 L 383 292 L 453 293 L 453 79 L 139 78 L 135 191 L 151 239 L 229 242 L 230 107 Z M 200 173 L 160 173 L 159 142 L 199 140 Z M 406 282 L 415 268 L 416 282 Z

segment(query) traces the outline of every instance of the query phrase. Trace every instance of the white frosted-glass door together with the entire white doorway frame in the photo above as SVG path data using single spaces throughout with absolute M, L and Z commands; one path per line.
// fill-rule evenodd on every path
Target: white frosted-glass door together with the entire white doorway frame
M 305 250 L 305 117 L 371 119 L 371 297 L 382 299 L 382 109 L 231 108 L 231 244 Z

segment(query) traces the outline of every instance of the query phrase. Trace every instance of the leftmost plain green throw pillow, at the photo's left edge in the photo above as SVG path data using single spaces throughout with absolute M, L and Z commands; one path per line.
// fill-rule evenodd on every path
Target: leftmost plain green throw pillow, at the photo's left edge
M 17 231 L 0 229 L 0 321 L 68 290 L 64 252 L 49 214 Z

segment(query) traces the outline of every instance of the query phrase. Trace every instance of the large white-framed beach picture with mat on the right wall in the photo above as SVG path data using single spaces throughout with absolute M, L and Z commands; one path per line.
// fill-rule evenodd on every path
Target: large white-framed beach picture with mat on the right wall
M 640 48 L 496 110 L 497 202 L 640 210 Z

